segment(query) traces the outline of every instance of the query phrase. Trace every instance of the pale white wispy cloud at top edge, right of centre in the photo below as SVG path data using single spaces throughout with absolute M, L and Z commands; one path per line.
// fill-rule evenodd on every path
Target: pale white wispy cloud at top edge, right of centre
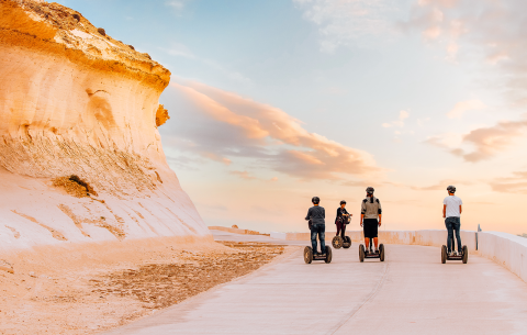
M 304 19 L 318 26 L 321 51 L 325 53 L 392 31 L 388 14 L 394 7 L 386 1 L 293 0 L 293 3 L 303 11 Z

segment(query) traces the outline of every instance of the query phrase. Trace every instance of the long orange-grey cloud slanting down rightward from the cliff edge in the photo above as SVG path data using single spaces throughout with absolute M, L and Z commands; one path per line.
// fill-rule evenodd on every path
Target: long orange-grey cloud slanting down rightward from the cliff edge
M 177 82 L 179 81 L 179 82 Z M 304 130 L 284 111 L 203 83 L 172 78 L 179 110 L 175 129 L 160 129 L 172 146 L 217 159 L 253 159 L 299 179 L 340 180 L 379 175 L 372 156 Z M 170 102 L 168 102 L 170 105 Z M 165 139 L 164 139 L 165 141 Z

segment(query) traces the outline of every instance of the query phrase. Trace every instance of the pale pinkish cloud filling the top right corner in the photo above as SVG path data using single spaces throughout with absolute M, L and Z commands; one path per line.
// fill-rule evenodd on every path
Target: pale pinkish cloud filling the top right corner
M 504 81 L 496 87 L 505 85 L 512 105 L 522 108 L 527 102 L 526 21 L 525 0 L 418 0 L 400 26 L 444 46 L 447 60 L 458 62 L 464 51 L 470 62 L 475 55 L 483 65 L 502 71 Z

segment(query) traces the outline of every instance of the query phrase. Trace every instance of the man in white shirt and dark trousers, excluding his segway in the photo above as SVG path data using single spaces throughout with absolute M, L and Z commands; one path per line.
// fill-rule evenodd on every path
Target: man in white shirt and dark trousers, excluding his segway
M 456 187 L 449 186 L 447 188 L 448 197 L 445 198 L 442 201 L 442 217 L 445 217 L 445 225 L 448 230 L 448 238 L 447 238 L 447 248 L 449 255 L 456 255 L 456 250 L 453 247 L 453 231 L 456 231 L 456 239 L 458 241 L 458 254 L 461 255 L 462 247 L 461 247 L 461 236 L 459 235 L 459 230 L 461 227 L 461 205 L 463 202 L 461 199 L 456 197 Z

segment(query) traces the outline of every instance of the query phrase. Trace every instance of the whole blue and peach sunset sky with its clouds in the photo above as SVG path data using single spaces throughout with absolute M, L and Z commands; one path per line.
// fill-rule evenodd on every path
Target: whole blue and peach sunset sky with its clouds
M 527 232 L 524 0 L 60 0 L 170 69 L 165 153 L 208 225 Z M 101 10 L 103 9 L 103 10 Z

